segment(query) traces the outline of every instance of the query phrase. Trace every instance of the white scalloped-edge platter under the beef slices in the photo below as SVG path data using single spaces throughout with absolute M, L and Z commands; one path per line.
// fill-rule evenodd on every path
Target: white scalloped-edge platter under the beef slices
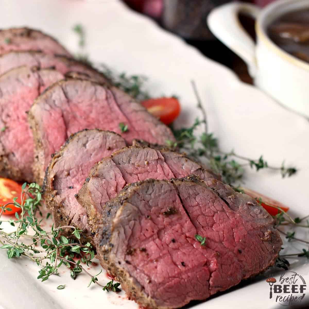
M 0 4 L 0 28 L 42 29 L 71 52 L 78 50 L 72 27 L 81 23 L 87 32 L 85 52 L 92 61 L 104 62 L 119 72 L 146 75 L 148 89 L 154 96 L 162 93 L 180 96 L 183 112 L 179 125 L 189 125 L 200 116 L 190 84 L 194 79 L 207 110 L 209 129 L 219 138 L 222 150 L 234 149 L 252 158 L 263 154 L 269 164 L 277 166 L 285 159 L 287 165 L 299 168 L 296 176 L 286 179 L 267 170 L 248 171 L 246 186 L 289 205 L 292 215 L 309 214 L 309 123 L 306 119 L 282 108 L 254 87 L 241 83 L 230 70 L 205 58 L 118 0 L 2 0 Z M 308 231 L 302 229 L 297 235 L 306 237 Z M 305 248 L 296 242 L 292 247 L 291 251 Z M 291 269 L 309 282 L 307 259 L 290 261 L 293 262 Z M 54 276 L 41 283 L 36 279 L 38 269 L 25 259 L 8 260 L 5 251 L 0 250 L 0 308 L 138 308 L 125 298 L 124 292 L 107 294 L 96 286 L 87 289 L 86 275 L 73 281 L 65 269 L 61 277 Z M 95 274 L 99 269 L 97 266 L 89 271 Z M 280 273 L 267 275 L 280 276 Z M 104 274 L 99 279 L 109 281 Z M 60 284 L 66 284 L 66 288 L 57 290 Z M 192 307 L 266 309 L 277 306 L 269 299 L 265 279 L 257 278 L 250 285 L 242 285 Z

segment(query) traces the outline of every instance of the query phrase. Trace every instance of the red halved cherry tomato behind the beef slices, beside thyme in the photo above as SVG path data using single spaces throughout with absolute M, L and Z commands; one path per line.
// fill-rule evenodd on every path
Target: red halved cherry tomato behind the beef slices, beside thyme
M 172 123 L 180 113 L 180 104 L 176 98 L 149 99 L 143 101 L 142 105 L 166 125 Z

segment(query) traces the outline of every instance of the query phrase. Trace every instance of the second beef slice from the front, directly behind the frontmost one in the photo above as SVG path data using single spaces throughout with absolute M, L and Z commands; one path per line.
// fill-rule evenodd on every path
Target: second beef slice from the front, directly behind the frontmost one
M 115 197 L 126 184 L 153 179 L 181 178 L 196 174 L 213 180 L 213 174 L 200 164 L 170 150 L 130 146 L 103 158 L 91 169 L 89 180 L 78 193 L 78 201 L 88 214 L 89 225 L 97 230 L 104 204 Z

